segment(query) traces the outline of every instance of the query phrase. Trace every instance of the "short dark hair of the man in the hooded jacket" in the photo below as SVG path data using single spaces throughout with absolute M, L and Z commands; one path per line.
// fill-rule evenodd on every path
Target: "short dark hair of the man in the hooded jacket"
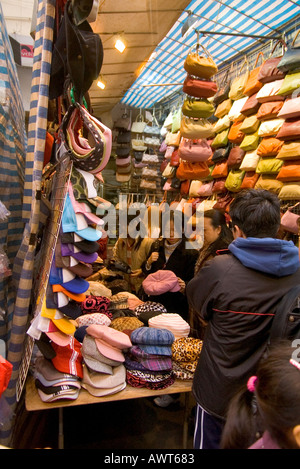
M 232 226 L 237 225 L 247 237 L 275 238 L 280 226 L 280 201 L 272 192 L 247 189 L 235 196 L 229 215 Z

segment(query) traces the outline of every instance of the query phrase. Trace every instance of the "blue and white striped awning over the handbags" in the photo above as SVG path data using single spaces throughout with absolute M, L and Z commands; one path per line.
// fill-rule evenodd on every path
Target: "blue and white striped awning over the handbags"
M 196 21 L 182 36 L 189 12 Z M 264 38 L 281 37 L 284 26 L 297 17 L 300 20 L 300 0 L 193 0 L 121 102 L 149 109 L 179 91 L 186 77 L 183 62 L 197 41 L 196 31 L 199 42 L 221 67 L 254 44 L 264 45 Z

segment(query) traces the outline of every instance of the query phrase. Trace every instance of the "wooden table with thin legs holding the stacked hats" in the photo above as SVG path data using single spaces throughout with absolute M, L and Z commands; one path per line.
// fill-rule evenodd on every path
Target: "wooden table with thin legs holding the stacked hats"
M 101 404 L 103 402 L 121 401 L 125 399 L 138 399 L 149 396 L 159 396 L 163 394 L 185 393 L 184 405 L 184 421 L 183 421 L 183 449 L 187 447 L 187 433 L 188 433 L 188 402 L 189 393 L 192 390 L 191 380 L 175 380 L 175 383 L 162 390 L 151 390 L 147 388 L 134 388 L 127 385 L 122 391 L 103 397 L 92 396 L 86 389 L 81 388 L 79 396 L 73 401 L 58 400 L 56 402 L 46 403 L 43 402 L 38 394 L 37 388 L 34 384 L 34 378 L 29 376 L 26 382 L 25 406 L 28 411 L 46 410 L 46 409 L 59 409 L 59 432 L 58 432 L 58 447 L 64 448 L 64 432 L 63 432 L 63 409 L 65 407 L 73 407 L 86 404 Z

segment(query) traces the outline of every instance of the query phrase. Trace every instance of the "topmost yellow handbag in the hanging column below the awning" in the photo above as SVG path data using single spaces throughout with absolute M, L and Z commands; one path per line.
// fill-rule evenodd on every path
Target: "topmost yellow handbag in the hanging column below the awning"
M 196 51 L 193 52 L 195 47 Z M 199 47 L 203 49 L 204 55 L 199 55 Z M 218 67 L 216 66 L 212 56 L 208 50 L 198 42 L 190 48 L 184 61 L 183 68 L 189 75 L 206 79 L 211 78 L 218 72 Z

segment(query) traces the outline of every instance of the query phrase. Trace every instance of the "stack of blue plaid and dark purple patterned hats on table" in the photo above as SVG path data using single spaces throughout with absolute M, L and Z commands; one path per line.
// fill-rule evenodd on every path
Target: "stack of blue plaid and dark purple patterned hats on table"
M 172 332 L 143 326 L 130 337 L 133 346 L 125 357 L 127 383 L 148 389 L 165 389 L 173 384 Z

